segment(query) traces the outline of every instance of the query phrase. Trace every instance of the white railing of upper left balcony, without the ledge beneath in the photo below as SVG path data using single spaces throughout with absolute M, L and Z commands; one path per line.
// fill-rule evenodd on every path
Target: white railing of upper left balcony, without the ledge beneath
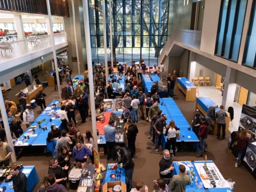
M 54 43 L 60 44 L 67 41 L 65 32 L 54 33 Z M 52 47 L 50 35 L 29 35 L 25 39 L 1 39 L 0 41 L 0 64 L 10 59 L 37 52 Z

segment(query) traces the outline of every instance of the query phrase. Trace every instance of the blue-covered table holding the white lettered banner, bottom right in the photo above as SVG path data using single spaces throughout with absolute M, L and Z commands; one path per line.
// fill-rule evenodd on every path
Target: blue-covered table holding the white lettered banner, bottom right
M 204 163 L 206 162 L 206 165 Z M 193 183 L 186 186 L 186 192 L 232 192 L 230 185 L 221 175 L 213 161 L 194 161 L 194 162 L 173 162 L 173 175 L 179 174 L 179 165 L 183 164 L 190 176 L 190 170 L 195 172 Z M 202 182 L 203 187 L 196 187 L 195 178 L 198 178 L 197 184 Z M 208 177 L 208 179 L 207 179 Z

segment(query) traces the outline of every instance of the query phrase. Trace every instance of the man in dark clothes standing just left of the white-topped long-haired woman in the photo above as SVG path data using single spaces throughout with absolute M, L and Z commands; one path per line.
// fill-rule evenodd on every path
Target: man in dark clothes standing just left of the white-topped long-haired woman
M 156 120 L 156 123 L 154 124 L 154 129 L 156 132 L 156 135 L 155 135 L 155 151 L 156 151 L 156 153 L 159 153 L 158 147 L 160 146 L 160 141 L 161 141 L 165 126 L 166 126 L 166 115 L 164 113 L 162 113 L 161 117 L 158 118 Z

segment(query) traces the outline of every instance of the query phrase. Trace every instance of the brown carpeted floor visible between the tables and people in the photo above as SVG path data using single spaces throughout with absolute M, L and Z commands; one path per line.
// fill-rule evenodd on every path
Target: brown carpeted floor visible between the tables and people
M 75 74 L 74 74 L 75 75 Z M 72 76 L 74 77 L 72 74 Z M 63 82 L 64 83 L 64 82 Z M 63 85 L 64 86 L 64 85 Z M 6 94 L 10 96 L 13 92 L 18 92 L 19 88 L 15 88 L 10 93 Z M 57 91 L 54 91 L 53 87 L 47 87 L 44 89 L 47 99 L 46 104 L 50 103 L 53 100 L 53 95 L 58 95 Z M 180 91 L 175 90 L 174 94 L 176 95 L 174 100 L 180 107 L 183 115 L 191 122 L 195 111 L 195 102 L 185 102 L 184 96 Z M 35 115 L 38 116 L 41 110 L 39 107 L 35 109 Z M 86 123 L 81 124 L 80 115 L 76 115 L 79 123 L 78 128 L 82 133 L 86 130 L 91 130 L 91 119 L 88 118 Z M 148 185 L 150 191 L 152 191 L 152 182 L 154 179 L 159 177 L 159 167 L 158 162 L 162 157 L 162 153 L 156 154 L 153 148 L 153 144 L 150 143 L 150 140 L 147 138 L 149 123 L 146 121 L 140 121 L 138 124 L 139 133 L 136 139 L 136 157 L 135 157 L 135 171 L 133 174 L 134 184 L 136 181 L 143 181 Z M 236 158 L 229 152 L 227 148 L 227 141 L 230 136 L 226 137 L 226 140 L 217 140 L 216 136 L 210 135 L 207 139 L 207 152 L 208 160 L 213 160 L 218 169 L 222 173 L 225 179 L 232 178 L 236 182 L 235 191 L 236 192 L 255 192 L 255 179 L 251 175 L 250 170 L 245 166 L 235 168 Z M 151 147 L 151 149 L 147 149 Z M 40 179 L 48 171 L 48 160 L 50 157 L 46 157 L 43 153 L 43 150 L 38 150 L 38 148 L 24 148 L 23 152 L 17 159 L 17 164 L 23 163 L 23 165 L 35 165 Z M 203 158 L 196 158 L 194 152 L 189 151 L 179 151 L 177 152 L 177 157 L 175 161 L 196 161 L 203 160 Z M 104 155 L 101 155 L 100 161 L 105 163 L 107 162 Z M 109 161 L 113 162 L 113 161 Z M 34 192 L 38 191 L 39 184 L 33 190 Z M 76 191 L 76 190 L 70 190 Z

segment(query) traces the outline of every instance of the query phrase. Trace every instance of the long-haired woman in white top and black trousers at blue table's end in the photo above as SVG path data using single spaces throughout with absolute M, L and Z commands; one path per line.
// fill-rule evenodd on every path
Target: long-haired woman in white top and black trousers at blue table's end
M 175 159 L 176 155 L 176 129 L 175 129 L 175 123 L 173 120 L 170 121 L 167 129 L 166 129 L 166 137 L 167 137 L 167 142 L 166 142 L 166 149 L 171 150 L 171 145 L 173 148 L 173 159 Z

